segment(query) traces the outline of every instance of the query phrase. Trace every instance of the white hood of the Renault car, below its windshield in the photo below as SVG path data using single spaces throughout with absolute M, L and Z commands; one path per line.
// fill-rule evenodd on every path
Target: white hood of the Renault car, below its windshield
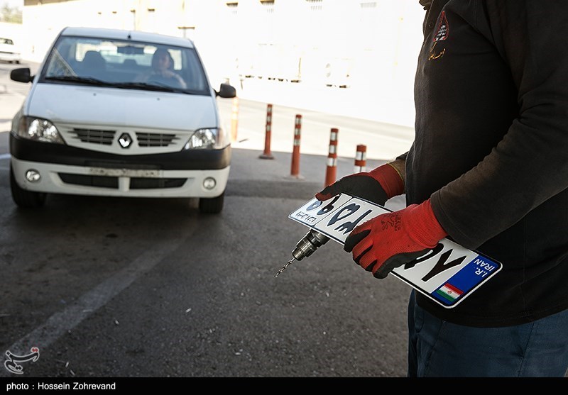
M 53 123 L 163 130 L 218 126 L 212 96 L 41 83 L 28 98 L 26 115 Z

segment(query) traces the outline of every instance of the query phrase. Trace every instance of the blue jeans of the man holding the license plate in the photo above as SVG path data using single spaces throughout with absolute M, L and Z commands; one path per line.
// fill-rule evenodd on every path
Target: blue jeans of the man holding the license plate
M 532 323 L 473 328 L 408 304 L 408 377 L 564 377 L 568 311 Z

